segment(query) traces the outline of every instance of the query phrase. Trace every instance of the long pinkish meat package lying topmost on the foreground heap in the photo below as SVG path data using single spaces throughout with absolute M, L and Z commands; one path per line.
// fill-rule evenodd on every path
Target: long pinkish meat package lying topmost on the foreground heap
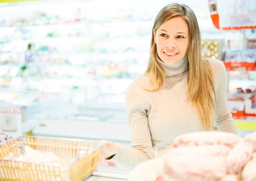
M 178 136 L 173 141 L 173 147 L 180 146 L 199 146 L 199 145 L 225 145 L 233 147 L 242 138 L 232 133 L 221 131 L 201 131 L 194 133 L 187 133 Z

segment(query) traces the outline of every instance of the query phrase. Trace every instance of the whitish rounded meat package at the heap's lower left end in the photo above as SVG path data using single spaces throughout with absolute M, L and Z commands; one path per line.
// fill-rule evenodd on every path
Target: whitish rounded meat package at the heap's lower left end
M 161 181 L 161 179 L 166 177 L 164 176 L 163 168 L 163 158 L 145 161 L 138 164 L 134 170 L 129 173 L 128 181 Z

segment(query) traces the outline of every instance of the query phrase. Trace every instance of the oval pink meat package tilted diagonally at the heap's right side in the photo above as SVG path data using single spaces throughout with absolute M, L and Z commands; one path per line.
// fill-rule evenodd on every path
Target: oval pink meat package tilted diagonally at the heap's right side
M 226 159 L 228 173 L 241 172 L 244 165 L 250 161 L 253 156 L 253 144 L 250 141 L 241 141 L 233 147 Z

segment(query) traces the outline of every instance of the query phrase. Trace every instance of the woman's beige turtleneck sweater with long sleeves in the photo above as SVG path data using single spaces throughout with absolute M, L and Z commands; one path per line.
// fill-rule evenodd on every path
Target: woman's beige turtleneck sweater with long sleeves
M 236 133 L 236 125 L 227 105 L 227 73 L 224 64 L 209 59 L 215 78 L 218 130 Z M 186 102 L 189 62 L 185 57 L 175 65 L 160 62 L 166 72 L 166 83 L 160 91 L 148 92 L 150 79 L 141 76 L 126 91 L 126 110 L 131 127 L 131 149 L 120 145 L 120 151 L 111 161 L 133 168 L 135 165 L 162 156 L 175 137 L 202 131 L 197 111 Z M 176 94 L 176 96 L 175 96 Z M 180 97 L 177 100 L 177 96 Z M 156 152 L 153 152 L 155 150 Z

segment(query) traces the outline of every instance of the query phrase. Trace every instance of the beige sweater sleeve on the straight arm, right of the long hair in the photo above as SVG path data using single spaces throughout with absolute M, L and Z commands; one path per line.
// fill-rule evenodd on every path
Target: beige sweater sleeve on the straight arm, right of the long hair
M 220 62 L 218 74 L 218 88 L 216 90 L 217 97 L 217 128 L 218 130 L 237 133 L 236 124 L 230 113 L 227 103 L 227 71 L 222 62 Z

